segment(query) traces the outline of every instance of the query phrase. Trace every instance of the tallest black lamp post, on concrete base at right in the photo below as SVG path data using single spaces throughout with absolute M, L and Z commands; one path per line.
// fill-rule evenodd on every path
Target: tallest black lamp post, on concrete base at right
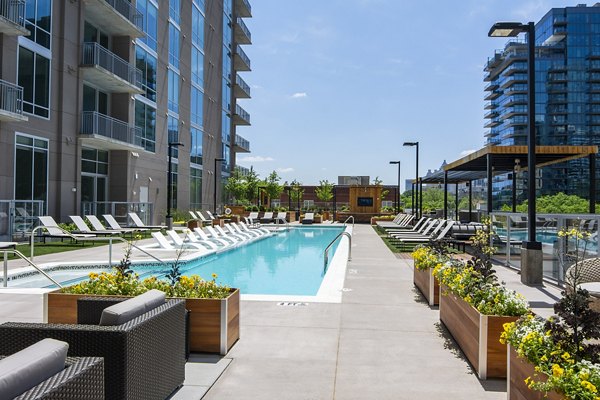
M 489 33 L 490 37 L 515 37 L 527 34 L 527 241 L 521 251 L 521 282 L 540 285 L 543 279 L 542 244 L 536 237 L 536 156 L 535 156 L 535 23 L 497 22 Z

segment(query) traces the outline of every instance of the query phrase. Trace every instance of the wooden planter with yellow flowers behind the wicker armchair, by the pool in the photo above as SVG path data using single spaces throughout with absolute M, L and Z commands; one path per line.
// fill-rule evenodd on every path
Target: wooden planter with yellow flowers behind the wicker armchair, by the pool
M 150 289 L 167 293 L 168 297 L 181 297 L 190 312 L 189 345 L 192 352 L 226 354 L 239 339 L 239 289 L 216 283 L 199 276 L 181 276 L 180 257 L 171 263 L 166 279 L 150 277 L 141 280 L 131 270 L 131 243 L 125 256 L 111 273 L 91 273 L 89 280 L 50 292 L 46 297 L 49 323 L 77 323 L 77 299 L 91 295 L 130 297 Z

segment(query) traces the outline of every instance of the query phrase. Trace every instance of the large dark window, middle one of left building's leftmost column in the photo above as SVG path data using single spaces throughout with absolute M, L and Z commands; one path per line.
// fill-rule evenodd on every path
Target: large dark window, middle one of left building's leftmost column
M 50 116 L 50 60 L 19 46 L 19 86 L 23 87 L 23 111 Z

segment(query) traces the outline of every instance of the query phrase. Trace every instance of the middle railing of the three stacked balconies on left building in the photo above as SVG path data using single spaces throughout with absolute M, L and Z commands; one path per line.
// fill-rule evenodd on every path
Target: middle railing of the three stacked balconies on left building
M 82 48 L 82 65 L 98 65 L 132 85 L 141 87 L 142 71 L 126 60 L 105 49 L 98 43 L 84 43 Z

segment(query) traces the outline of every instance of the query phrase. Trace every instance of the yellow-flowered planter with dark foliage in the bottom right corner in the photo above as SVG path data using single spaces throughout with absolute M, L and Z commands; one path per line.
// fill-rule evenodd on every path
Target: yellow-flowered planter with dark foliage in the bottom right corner
M 567 289 L 554 305 L 556 315 L 548 320 L 527 315 L 504 326 L 502 341 L 510 348 L 509 399 L 600 397 L 600 313 L 590 308 L 578 271 L 588 234 L 572 229 L 559 236 L 573 240 L 576 251 L 566 274 Z

